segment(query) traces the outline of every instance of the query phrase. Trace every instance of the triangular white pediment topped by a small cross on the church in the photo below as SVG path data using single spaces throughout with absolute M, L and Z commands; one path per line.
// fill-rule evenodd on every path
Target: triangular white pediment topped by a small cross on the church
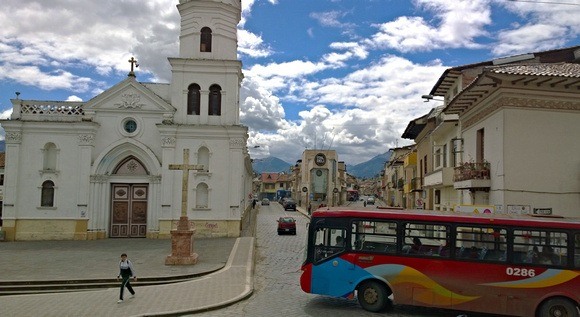
M 174 113 L 175 108 L 133 77 L 89 100 L 85 112 L 132 111 Z

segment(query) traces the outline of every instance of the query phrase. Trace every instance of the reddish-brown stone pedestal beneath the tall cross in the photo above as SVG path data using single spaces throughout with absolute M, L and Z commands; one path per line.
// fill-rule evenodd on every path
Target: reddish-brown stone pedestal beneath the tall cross
M 171 255 L 165 258 L 165 265 L 193 265 L 197 263 L 197 253 L 193 252 L 193 234 L 187 216 L 179 218 L 176 230 L 171 230 Z

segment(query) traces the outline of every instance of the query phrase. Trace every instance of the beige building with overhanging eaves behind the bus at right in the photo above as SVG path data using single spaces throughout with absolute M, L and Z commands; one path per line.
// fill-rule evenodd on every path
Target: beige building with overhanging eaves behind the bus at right
M 576 46 L 445 71 L 428 96 L 445 108 L 417 133 L 429 209 L 580 216 L 579 61 Z

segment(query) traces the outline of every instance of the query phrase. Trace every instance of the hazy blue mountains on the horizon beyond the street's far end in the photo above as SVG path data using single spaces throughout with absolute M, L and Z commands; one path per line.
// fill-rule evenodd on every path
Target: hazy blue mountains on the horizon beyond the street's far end
M 385 166 L 385 162 L 391 157 L 391 152 L 379 154 L 372 159 L 353 166 L 347 165 L 348 174 L 356 178 L 374 178 L 380 175 Z M 290 167 L 293 164 L 287 163 L 277 157 L 270 156 L 263 159 L 257 159 L 252 162 L 254 171 L 261 173 L 290 173 Z

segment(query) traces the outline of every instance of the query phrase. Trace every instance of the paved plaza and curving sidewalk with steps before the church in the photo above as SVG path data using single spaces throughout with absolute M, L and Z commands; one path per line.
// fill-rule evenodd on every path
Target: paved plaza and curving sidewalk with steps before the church
M 251 295 L 253 237 L 199 239 L 194 251 L 199 254 L 198 264 L 166 266 L 171 240 L 0 243 L 0 281 L 114 278 L 123 252 L 134 262 L 138 278 L 213 272 L 186 282 L 137 284 L 136 298 L 125 298 L 121 304 L 117 304 L 118 287 L 0 296 L 0 316 L 171 316 L 219 308 Z

